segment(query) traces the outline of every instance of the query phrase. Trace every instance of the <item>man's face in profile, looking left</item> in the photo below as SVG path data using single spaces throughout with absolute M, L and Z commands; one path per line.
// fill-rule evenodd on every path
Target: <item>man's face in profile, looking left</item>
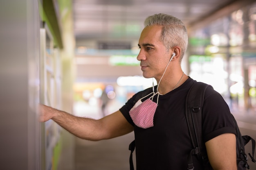
M 141 32 L 137 60 L 145 78 L 154 77 L 156 80 L 164 74 L 164 70 L 171 59 L 171 50 L 166 52 L 164 44 L 160 41 L 162 26 L 148 26 Z

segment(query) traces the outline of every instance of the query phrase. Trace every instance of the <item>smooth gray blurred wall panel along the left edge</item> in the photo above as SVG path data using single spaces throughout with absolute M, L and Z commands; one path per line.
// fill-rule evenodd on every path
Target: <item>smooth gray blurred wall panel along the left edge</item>
M 38 170 L 38 4 L 0 1 L 0 14 L 0 169 Z

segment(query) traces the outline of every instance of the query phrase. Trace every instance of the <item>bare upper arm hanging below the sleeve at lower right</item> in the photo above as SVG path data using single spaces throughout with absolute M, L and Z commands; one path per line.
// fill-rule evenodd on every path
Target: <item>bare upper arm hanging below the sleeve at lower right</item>
M 205 143 L 207 155 L 214 170 L 237 170 L 236 135 L 225 133 Z

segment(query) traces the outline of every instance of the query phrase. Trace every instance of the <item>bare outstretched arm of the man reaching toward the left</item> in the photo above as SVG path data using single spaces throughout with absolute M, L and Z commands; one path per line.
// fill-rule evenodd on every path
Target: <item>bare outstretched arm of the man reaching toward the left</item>
M 94 120 L 76 117 L 65 111 L 40 105 L 39 121 L 46 122 L 50 119 L 77 137 L 93 141 L 110 139 L 133 131 L 133 126 L 120 111 L 116 111 L 99 120 Z

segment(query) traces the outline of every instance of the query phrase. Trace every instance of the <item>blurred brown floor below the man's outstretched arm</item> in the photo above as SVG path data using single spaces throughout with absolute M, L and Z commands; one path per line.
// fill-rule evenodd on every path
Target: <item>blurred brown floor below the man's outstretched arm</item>
M 133 133 L 97 142 L 76 138 L 75 170 L 129 170 L 133 139 Z

